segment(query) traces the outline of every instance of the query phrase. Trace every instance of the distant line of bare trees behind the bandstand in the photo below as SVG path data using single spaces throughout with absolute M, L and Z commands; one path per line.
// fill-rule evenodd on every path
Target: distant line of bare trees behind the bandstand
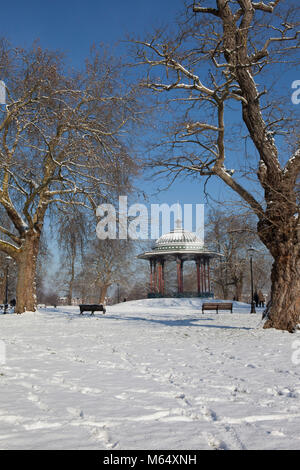
M 133 241 L 98 240 L 94 231 L 89 232 L 84 213 L 74 208 L 73 214 L 66 214 L 60 221 L 58 242 L 60 244 L 60 266 L 49 279 L 45 266 L 51 263 L 47 250 L 40 258 L 38 278 L 47 279 L 38 289 L 41 303 L 59 303 L 64 297 L 67 305 L 79 298 L 84 303 L 103 303 L 107 295 L 114 300 L 146 297 L 149 290 L 149 267 L 136 259 L 143 248 Z M 218 298 L 248 300 L 250 298 L 249 253 L 247 249 L 256 247 L 254 257 L 255 287 L 269 293 L 270 256 L 260 243 L 255 231 L 254 218 L 249 214 L 228 215 L 215 208 L 208 214 L 205 229 L 206 245 L 223 254 L 221 261 L 212 266 L 211 278 Z M 177 292 L 177 278 L 174 263 L 168 263 L 165 270 L 167 294 Z M 50 285 L 49 285 L 50 284 Z M 196 292 L 195 266 L 185 263 L 184 286 L 186 291 Z

